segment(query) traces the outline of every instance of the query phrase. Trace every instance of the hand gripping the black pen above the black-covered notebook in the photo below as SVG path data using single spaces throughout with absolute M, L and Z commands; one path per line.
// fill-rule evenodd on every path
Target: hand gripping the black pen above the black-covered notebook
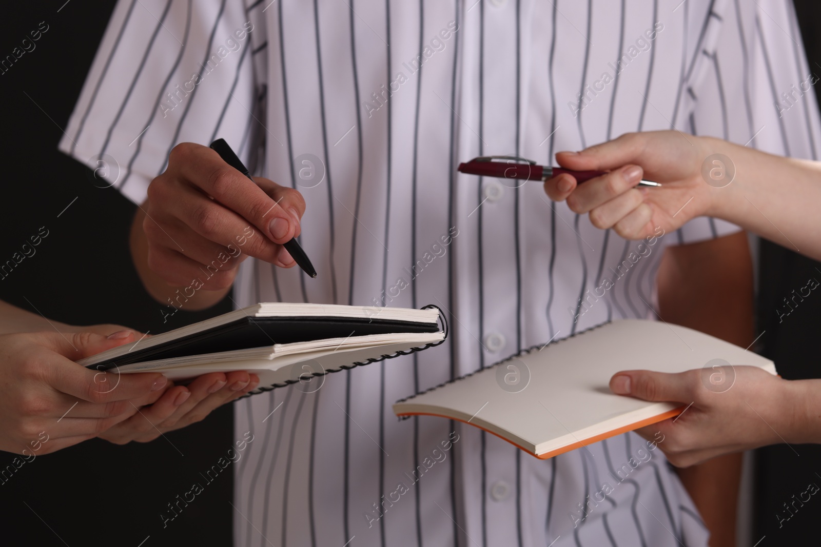
M 217 303 L 247 257 L 296 266 L 286 245 L 300 235 L 305 200 L 243 171 L 207 146 L 182 143 L 151 181 L 135 215 L 131 254 L 149 294 L 168 307 L 164 312 Z

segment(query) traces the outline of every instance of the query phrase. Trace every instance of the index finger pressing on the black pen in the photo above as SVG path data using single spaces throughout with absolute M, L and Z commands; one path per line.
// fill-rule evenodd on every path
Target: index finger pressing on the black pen
M 180 162 L 181 173 L 193 185 L 250 221 L 274 243 L 286 243 L 296 234 L 299 221 L 288 209 L 304 210 L 305 207 L 296 190 L 282 189 L 281 198 L 275 200 L 240 171 L 223 162 L 218 153 L 199 145 L 178 145 L 172 149 L 169 162 L 172 159 Z

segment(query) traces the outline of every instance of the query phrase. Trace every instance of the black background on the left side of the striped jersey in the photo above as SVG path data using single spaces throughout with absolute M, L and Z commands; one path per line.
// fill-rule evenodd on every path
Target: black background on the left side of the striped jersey
M 0 280 L 0 298 L 58 321 L 117 323 L 152 334 L 230 311 L 227 300 L 208 312 L 177 312 L 163 324 L 162 307 L 143 289 L 128 253 L 135 206 L 117 189 L 99 188 L 103 184 L 88 168 L 57 152 L 60 128 L 113 9 L 113 2 L 71 0 L 57 12 L 64 2 L 13 2 L 14 11 L 7 2 L 0 16 L 0 58 L 40 21 L 49 27 L 34 51 L 0 75 L 6 135 L 0 262 L 40 226 L 49 231 L 34 256 Z M 151 443 L 117 446 L 94 439 L 36 457 L 0 485 L 0 545 L 136 547 L 147 536 L 143 547 L 231 545 L 232 467 L 210 484 L 199 473 L 231 448 L 232 423 L 227 405 Z M 0 453 L 0 468 L 9 456 Z M 167 504 L 195 481 L 204 491 L 163 528 L 160 513 L 168 513 Z M 11 537 L 19 540 L 4 540 Z

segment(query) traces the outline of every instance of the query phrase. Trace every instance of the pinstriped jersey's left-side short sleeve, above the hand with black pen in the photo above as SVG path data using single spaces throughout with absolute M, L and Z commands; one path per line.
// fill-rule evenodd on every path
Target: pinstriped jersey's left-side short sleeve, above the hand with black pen
M 178 143 L 247 158 L 263 27 L 242 2 L 117 2 L 59 149 L 135 203 Z

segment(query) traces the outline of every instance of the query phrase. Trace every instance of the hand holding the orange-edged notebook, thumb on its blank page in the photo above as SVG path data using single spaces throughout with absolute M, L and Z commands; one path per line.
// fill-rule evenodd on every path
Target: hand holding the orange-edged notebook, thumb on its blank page
M 630 382 L 625 382 L 628 377 Z M 705 389 L 708 385 L 712 389 Z M 625 371 L 610 381 L 616 394 L 687 405 L 674 421 L 635 431 L 647 440 L 662 438 L 658 447 L 677 467 L 767 444 L 818 442 L 817 413 L 810 403 L 818 400 L 818 386 L 818 380 L 783 380 L 746 366 L 677 373 Z

